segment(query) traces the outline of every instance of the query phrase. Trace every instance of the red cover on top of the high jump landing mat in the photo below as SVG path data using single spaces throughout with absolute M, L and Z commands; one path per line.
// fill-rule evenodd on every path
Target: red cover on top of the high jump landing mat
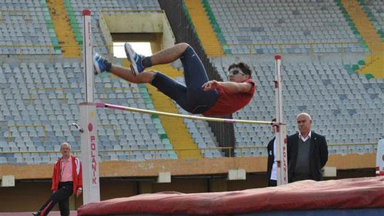
M 87 214 L 237 214 L 384 207 L 384 177 L 306 180 L 278 187 L 210 193 L 159 192 L 81 206 Z

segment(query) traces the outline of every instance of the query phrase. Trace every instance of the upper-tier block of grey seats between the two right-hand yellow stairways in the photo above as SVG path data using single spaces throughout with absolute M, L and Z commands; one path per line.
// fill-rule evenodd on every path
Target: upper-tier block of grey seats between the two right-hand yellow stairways
M 333 1 L 230 1 L 208 0 L 232 54 L 368 52 L 358 43 L 347 20 Z M 323 43 L 314 45 L 310 43 Z M 356 44 L 332 44 L 356 42 Z M 294 45 L 307 43 L 306 45 Z

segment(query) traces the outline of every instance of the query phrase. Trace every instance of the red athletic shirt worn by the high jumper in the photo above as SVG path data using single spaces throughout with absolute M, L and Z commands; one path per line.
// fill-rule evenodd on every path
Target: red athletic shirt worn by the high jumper
M 203 113 L 204 116 L 225 116 L 232 114 L 244 106 L 252 99 L 256 84 L 252 79 L 246 79 L 243 82 L 252 84 L 251 90 L 247 93 L 229 93 L 223 88 L 216 89 L 219 92 L 219 99 L 216 103 Z

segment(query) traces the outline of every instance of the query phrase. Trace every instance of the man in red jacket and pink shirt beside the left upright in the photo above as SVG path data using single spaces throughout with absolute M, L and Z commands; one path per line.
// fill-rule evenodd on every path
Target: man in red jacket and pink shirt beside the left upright
M 58 158 L 52 175 L 52 195 L 33 215 L 47 215 L 59 203 L 61 216 L 69 215 L 69 197 L 82 192 L 82 171 L 78 158 L 71 156 L 71 145 L 67 142 L 60 145 L 62 157 Z

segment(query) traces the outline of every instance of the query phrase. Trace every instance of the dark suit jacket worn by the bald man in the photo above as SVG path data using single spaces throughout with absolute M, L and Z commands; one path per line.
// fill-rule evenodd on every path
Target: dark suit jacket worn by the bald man
M 292 182 L 294 177 L 294 170 L 297 161 L 297 147 L 298 147 L 298 133 L 291 135 L 287 140 L 288 150 L 288 181 Z M 311 146 L 310 146 L 310 169 L 312 179 L 320 181 L 323 179 L 321 169 L 328 161 L 328 146 L 324 136 L 316 134 L 312 131 Z

